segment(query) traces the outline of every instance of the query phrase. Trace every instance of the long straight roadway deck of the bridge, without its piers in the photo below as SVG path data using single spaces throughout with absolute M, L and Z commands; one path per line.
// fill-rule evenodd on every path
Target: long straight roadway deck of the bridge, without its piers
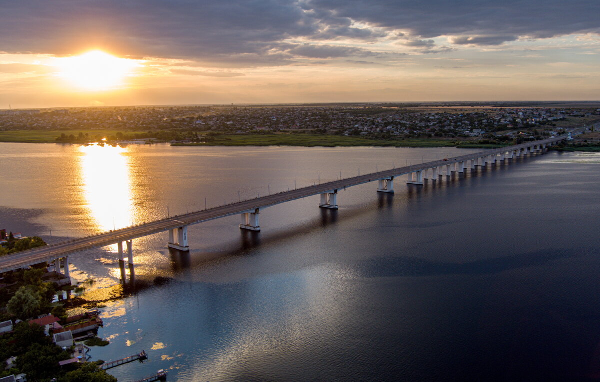
M 533 147 L 533 145 L 553 144 L 557 141 L 565 140 L 566 135 L 560 137 L 548 138 L 540 141 L 530 141 L 528 143 L 506 146 L 502 148 L 493 148 L 491 150 L 469 153 L 462 156 L 448 158 L 448 160 L 435 160 L 433 162 L 419 163 L 416 165 L 404 166 L 370 174 L 358 175 L 356 177 L 344 178 L 341 180 L 330 181 L 327 183 L 316 184 L 314 186 L 302 187 L 286 192 L 275 193 L 259 198 L 248 199 L 242 202 L 236 202 L 219 207 L 209 208 L 207 210 L 195 211 L 165 219 L 155 220 L 153 222 L 142 223 L 109 232 L 86 236 L 82 238 L 70 239 L 59 242 L 58 244 L 45 245 L 44 247 L 32 248 L 30 250 L 20 251 L 13 254 L 0 257 L 0 273 L 14 269 L 23 268 L 44 261 L 52 261 L 68 254 L 88 250 L 91 248 L 104 247 L 117 242 L 123 242 L 130 239 L 140 238 L 147 235 L 157 234 L 159 232 L 169 231 L 185 225 L 208 222 L 208 220 L 218 219 L 225 216 L 254 212 L 256 208 L 266 208 L 272 205 L 289 202 L 296 199 L 306 198 L 307 196 L 319 195 L 334 190 L 346 189 L 347 187 L 357 186 L 358 184 L 371 181 L 386 179 L 389 177 L 398 177 L 422 169 L 433 168 L 436 166 L 448 165 L 453 162 L 471 160 L 478 157 L 484 157 L 493 154 L 500 154 L 511 150 Z

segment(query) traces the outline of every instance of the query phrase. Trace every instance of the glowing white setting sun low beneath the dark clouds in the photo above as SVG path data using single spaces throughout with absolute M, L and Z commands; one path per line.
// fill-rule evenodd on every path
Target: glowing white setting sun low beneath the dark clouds
M 111 90 L 124 85 L 124 78 L 142 66 L 141 60 L 112 56 L 92 50 L 79 56 L 58 59 L 59 76 L 85 90 Z

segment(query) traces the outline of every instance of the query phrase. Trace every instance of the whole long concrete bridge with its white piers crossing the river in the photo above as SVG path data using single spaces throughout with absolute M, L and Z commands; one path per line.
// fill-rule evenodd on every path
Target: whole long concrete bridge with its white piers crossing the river
M 286 192 L 275 193 L 246 201 L 221 205 L 219 207 L 194 211 L 165 219 L 145 222 L 108 232 L 101 232 L 91 236 L 70 239 L 58 244 L 45 245 L 44 247 L 32 248 L 0 257 L 0 273 L 14 269 L 26 268 L 42 262 L 54 262 L 57 272 L 64 265 L 64 274 L 69 277 L 68 255 L 91 248 L 104 247 L 117 244 L 119 265 L 124 272 L 125 257 L 123 242 L 127 248 L 127 262 L 131 274 L 134 272 L 132 240 L 147 235 L 169 232 L 167 245 L 182 251 L 190 250 L 188 246 L 187 228 L 189 225 L 208 222 L 230 215 L 241 215 L 239 228 L 251 231 L 260 231 L 259 213 L 263 208 L 271 207 L 284 202 L 306 198 L 307 196 L 320 195 L 319 207 L 337 209 L 337 192 L 341 189 L 357 186 L 358 184 L 377 181 L 378 192 L 394 192 L 394 181 L 401 175 L 407 175 L 406 183 L 422 185 L 425 179 L 439 181 L 444 177 L 452 175 L 452 172 L 463 173 L 468 168 L 475 169 L 476 166 L 487 166 L 488 163 L 505 161 L 530 153 L 544 153 L 547 146 L 566 140 L 569 135 L 548 138 L 545 140 L 531 141 L 528 143 L 512 146 L 493 148 L 491 150 L 479 151 L 462 156 L 434 160 L 433 162 L 417 165 L 392 168 L 370 174 L 358 175 L 356 177 L 344 178 L 327 183 L 315 184 L 314 186 L 302 187 Z

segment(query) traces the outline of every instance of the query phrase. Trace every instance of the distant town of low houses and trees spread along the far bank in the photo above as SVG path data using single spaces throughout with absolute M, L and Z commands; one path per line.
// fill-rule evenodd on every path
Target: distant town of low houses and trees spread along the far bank
M 334 104 L 0 110 L 0 140 L 7 141 L 2 139 L 3 131 L 61 131 L 48 141 L 105 138 L 210 143 L 218 141 L 219 135 L 317 134 L 503 143 L 515 137 L 562 134 L 565 129 L 600 121 L 598 105 L 583 106 Z

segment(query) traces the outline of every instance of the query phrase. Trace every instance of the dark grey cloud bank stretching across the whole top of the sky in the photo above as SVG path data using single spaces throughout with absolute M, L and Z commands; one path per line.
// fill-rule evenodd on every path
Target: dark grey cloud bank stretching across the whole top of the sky
M 494 45 L 518 37 L 598 32 L 598 0 L 20 0 L 0 5 L 0 51 L 73 54 L 92 47 L 134 57 L 221 66 L 350 57 L 376 41 L 435 50 L 431 38 Z M 378 28 L 372 28 L 376 26 Z M 403 32 L 406 32 L 403 34 Z M 290 41 L 316 41 L 314 44 Z

